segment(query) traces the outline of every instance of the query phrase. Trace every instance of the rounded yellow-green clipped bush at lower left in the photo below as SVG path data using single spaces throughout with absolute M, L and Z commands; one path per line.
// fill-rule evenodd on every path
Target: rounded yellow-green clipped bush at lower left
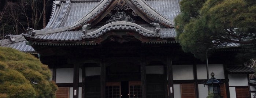
M 51 71 L 28 53 L 0 47 L 0 98 L 55 98 Z

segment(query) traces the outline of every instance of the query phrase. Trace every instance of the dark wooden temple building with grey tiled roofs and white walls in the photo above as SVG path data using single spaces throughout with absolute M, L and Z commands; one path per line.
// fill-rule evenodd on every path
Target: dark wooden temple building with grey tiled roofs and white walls
M 0 42 L 47 64 L 57 98 L 206 98 L 207 69 L 223 98 L 253 98 L 255 71 L 234 61 L 239 45 L 215 49 L 208 63 L 182 51 L 180 1 L 56 0 L 45 29 Z

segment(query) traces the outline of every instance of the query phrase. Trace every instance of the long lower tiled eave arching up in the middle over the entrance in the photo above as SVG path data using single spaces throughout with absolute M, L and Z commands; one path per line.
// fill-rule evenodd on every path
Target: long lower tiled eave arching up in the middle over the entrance
M 99 38 L 103 34 L 107 32 L 115 32 L 116 30 L 123 31 L 123 32 L 129 32 L 133 31 L 136 32 L 139 36 L 146 37 L 148 39 L 150 38 L 160 38 L 160 39 L 168 39 L 170 37 L 160 37 L 160 35 L 157 35 L 154 31 L 145 29 L 144 27 L 141 27 L 140 25 L 136 23 L 126 22 L 126 21 L 118 21 L 118 22 L 112 22 L 105 24 L 104 26 L 100 27 L 97 30 L 94 30 L 92 32 L 89 32 L 87 34 L 83 34 L 82 31 L 79 31 L 81 35 L 78 33 L 74 33 L 71 38 L 59 38 L 58 32 L 57 33 L 39 33 L 32 35 L 23 34 L 23 36 L 27 39 L 36 39 L 36 40 L 42 40 L 42 41 L 82 41 L 84 39 L 93 40 L 94 38 Z M 66 31 L 67 32 L 67 31 Z M 63 32 L 59 32 L 63 33 Z M 161 33 L 161 31 L 160 31 Z M 70 33 L 69 33 L 70 34 Z M 118 33 L 116 33 L 118 34 Z M 127 35 L 127 34 L 126 34 Z M 67 35 L 66 35 L 67 36 Z M 174 38 L 174 37 L 172 37 Z

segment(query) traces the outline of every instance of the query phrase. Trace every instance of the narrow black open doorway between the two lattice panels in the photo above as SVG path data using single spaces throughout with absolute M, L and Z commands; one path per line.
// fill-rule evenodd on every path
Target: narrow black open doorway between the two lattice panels
M 121 82 L 121 98 L 129 98 L 129 82 Z

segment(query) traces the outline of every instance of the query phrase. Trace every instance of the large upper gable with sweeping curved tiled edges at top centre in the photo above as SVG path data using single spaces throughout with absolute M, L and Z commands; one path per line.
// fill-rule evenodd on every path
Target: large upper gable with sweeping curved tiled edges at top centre
M 112 11 L 112 12 L 111 12 Z M 124 12 L 116 12 L 116 11 L 127 11 Z M 114 15 L 115 13 L 115 15 Z M 123 15 L 122 15 L 123 14 Z M 125 15 L 126 14 L 126 15 Z M 157 11 L 155 11 L 152 7 L 150 7 L 144 0 L 101 0 L 96 8 L 90 11 L 84 18 L 78 20 L 67 30 L 77 30 L 80 29 L 84 24 L 90 23 L 92 26 L 99 23 L 106 17 L 110 17 L 105 19 L 103 22 L 115 22 L 115 21 L 128 21 L 134 22 L 136 18 L 139 16 L 143 20 L 148 23 L 152 23 L 154 20 L 159 20 L 159 24 L 164 27 L 174 27 L 173 23 L 170 22 L 167 18 L 160 15 Z

